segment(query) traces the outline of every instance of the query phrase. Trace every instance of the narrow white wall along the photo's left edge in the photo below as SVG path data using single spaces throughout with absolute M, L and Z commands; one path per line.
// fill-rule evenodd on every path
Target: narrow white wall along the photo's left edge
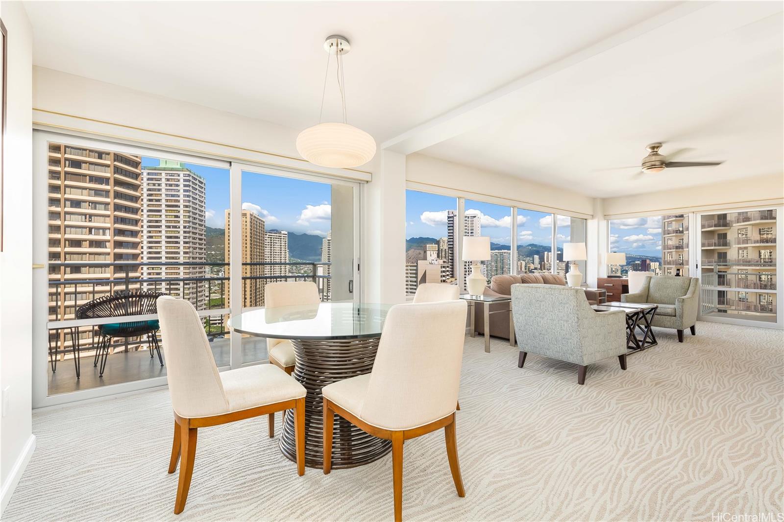
M 0 2 L 8 30 L 3 222 L 0 253 L 0 389 L 8 407 L 0 419 L 2 505 L 34 448 L 31 418 L 32 334 L 32 28 L 21 2 Z

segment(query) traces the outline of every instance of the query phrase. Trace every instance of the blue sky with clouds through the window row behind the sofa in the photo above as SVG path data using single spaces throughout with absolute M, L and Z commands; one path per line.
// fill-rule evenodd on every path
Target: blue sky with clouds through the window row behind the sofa
M 512 212 L 510 207 L 481 201 L 466 200 L 466 213 L 477 214 L 481 219 L 481 234 L 494 243 L 509 245 L 511 242 Z M 417 190 L 405 192 L 405 237 L 446 237 L 446 211 L 457 210 L 457 198 L 428 194 Z M 559 220 L 559 224 L 562 220 Z M 559 234 L 568 237 L 566 227 Z M 552 217 L 545 212 L 517 209 L 517 244 L 550 245 Z

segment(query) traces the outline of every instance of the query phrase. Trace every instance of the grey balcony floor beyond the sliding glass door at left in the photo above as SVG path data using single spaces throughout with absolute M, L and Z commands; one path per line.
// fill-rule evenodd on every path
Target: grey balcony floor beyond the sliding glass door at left
M 210 346 L 218 367 L 228 366 L 229 339 L 215 339 L 210 343 Z M 163 351 L 161 351 L 161 355 L 163 355 Z M 243 338 L 242 360 L 267 360 L 267 341 L 265 339 Z M 72 359 L 59 361 L 56 372 L 52 372 L 51 365 L 48 365 L 47 368 L 49 395 L 89 390 L 100 386 L 111 386 L 121 382 L 152 379 L 166 375 L 166 367 L 162 367 L 158 362 L 158 355 L 151 358 L 150 352 L 147 350 L 129 352 L 120 350 L 112 353 L 106 363 L 103 377 L 98 377 L 98 368 L 93 367 L 93 357 L 82 357 L 81 378 L 78 380 Z

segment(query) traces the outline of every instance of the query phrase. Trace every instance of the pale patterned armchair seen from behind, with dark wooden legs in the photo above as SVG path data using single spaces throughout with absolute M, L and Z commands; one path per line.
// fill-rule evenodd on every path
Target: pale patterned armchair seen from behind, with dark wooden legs
M 519 368 L 530 352 L 577 364 L 579 384 L 588 364 L 608 357 L 617 356 L 626 369 L 626 312 L 593 310 L 583 288 L 513 285 L 512 315 Z

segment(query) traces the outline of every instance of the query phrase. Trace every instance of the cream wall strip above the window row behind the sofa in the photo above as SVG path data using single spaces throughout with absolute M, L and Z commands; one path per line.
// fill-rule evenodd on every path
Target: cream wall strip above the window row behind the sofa
M 474 169 L 424 154 L 408 154 L 405 170 L 407 181 L 431 185 L 434 189 L 463 190 L 474 193 L 476 199 L 489 197 L 528 203 L 523 208 L 529 210 L 583 215 L 575 217 L 593 215 L 593 198 L 562 187 Z

